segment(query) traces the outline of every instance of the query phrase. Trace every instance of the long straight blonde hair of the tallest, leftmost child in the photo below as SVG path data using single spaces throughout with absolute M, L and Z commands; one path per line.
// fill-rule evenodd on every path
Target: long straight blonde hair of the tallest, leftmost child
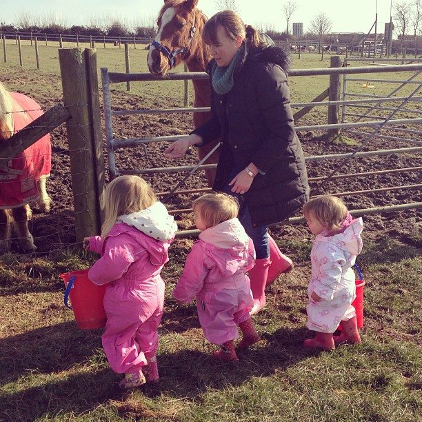
M 129 174 L 117 177 L 106 188 L 106 215 L 101 237 L 106 237 L 119 215 L 145 210 L 156 202 L 151 186 L 141 177 Z

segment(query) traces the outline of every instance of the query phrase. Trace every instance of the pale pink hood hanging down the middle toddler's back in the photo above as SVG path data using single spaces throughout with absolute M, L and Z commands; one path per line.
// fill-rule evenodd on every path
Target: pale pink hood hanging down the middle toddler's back
M 205 243 L 205 254 L 225 274 L 234 274 L 239 270 L 239 265 L 246 265 L 250 259 L 250 239 L 239 219 L 223 221 L 208 228 L 199 234 L 199 239 Z

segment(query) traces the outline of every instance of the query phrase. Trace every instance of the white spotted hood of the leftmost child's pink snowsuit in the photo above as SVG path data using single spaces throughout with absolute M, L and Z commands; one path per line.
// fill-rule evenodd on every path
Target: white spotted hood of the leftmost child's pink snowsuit
M 142 211 L 120 215 L 117 217 L 117 223 L 119 222 L 132 225 L 140 232 L 160 241 L 173 239 L 177 231 L 174 218 L 168 214 L 167 208 L 161 202 L 156 202 Z

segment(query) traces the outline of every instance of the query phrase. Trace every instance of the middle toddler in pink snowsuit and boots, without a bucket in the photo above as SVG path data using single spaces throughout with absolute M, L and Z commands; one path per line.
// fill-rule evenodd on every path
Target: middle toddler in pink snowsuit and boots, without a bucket
M 194 201 L 193 210 L 202 232 L 188 254 L 173 297 L 182 303 L 196 298 L 205 338 L 221 346 L 213 356 L 237 361 L 237 325 L 243 333 L 238 348 L 260 340 L 250 318 L 254 301 L 245 274 L 254 265 L 254 245 L 236 218 L 239 205 L 230 195 L 205 194 Z

